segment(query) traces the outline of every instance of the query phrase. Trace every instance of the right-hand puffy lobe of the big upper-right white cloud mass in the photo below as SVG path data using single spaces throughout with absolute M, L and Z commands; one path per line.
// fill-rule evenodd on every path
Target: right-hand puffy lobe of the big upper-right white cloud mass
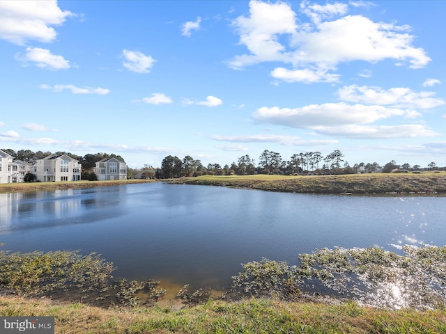
M 323 22 L 311 32 L 295 34 L 295 63 L 336 65 L 348 61 L 375 63 L 390 58 L 408 61 L 410 67 L 424 67 L 429 58 L 424 49 L 412 46 L 413 35 L 406 26 L 376 23 L 360 15 L 348 15 Z

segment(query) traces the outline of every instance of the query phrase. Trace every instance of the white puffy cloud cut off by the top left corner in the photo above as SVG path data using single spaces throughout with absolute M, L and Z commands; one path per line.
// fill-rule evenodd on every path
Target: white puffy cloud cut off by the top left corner
M 0 38 L 17 45 L 27 40 L 53 42 L 57 33 L 52 26 L 72 15 L 61 10 L 56 0 L 0 1 Z

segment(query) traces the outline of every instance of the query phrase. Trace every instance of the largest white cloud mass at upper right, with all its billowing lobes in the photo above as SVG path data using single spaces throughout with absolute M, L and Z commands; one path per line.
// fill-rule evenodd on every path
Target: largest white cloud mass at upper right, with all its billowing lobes
M 399 65 L 424 67 L 431 58 L 413 46 L 410 26 L 373 22 L 362 15 L 345 15 L 346 3 L 326 5 L 302 3 L 301 11 L 311 23 L 296 24 L 296 13 L 286 3 L 249 2 L 249 15 L 233 21 L 240 44 L 249 54 L 234 56 L 229 67 L 241 69 L 265 61 L 292 65 L 272 72 L 279 79 L 303 82 L 332 82 L 339 76 L 328 74 L 339 63 L 392 59 Z M 343 17 L 334 18 L 335 16 Z M 304 20 L 302 19 L 302 22 Z

